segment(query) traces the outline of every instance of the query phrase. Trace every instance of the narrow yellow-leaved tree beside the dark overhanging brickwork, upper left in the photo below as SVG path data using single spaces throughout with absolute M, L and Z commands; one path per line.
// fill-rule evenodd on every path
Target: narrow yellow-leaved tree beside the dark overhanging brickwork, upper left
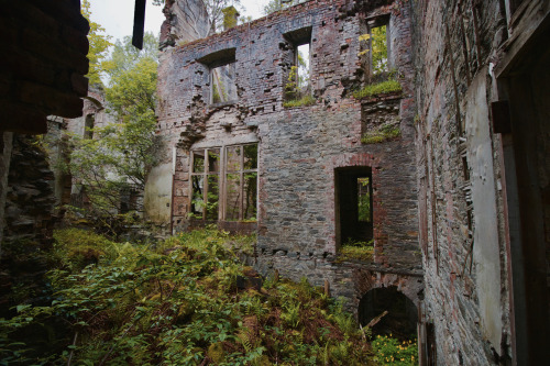
M 90 85 L 102 85 L 101 73 L 103 71 L 103 59 L 109 53 L 109 47 L 112 46 L 110 36 L 105 33 L 105 27 L 91 20 L 90 2 L 82 0 L 80 12 L 84 18 L 90 23 L 90 32 L 88 33 L 88 42 L 90 48 L 88 51 L 88 59 L 90 68 L 88 71 L 88 79 Z

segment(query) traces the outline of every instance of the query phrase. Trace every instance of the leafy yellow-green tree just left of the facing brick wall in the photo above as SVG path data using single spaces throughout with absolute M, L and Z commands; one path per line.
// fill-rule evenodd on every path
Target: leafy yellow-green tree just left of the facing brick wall
M 153 36 L 145 40 L 150 43 L 145 49 L 156 44 Z M 118 122 L 95 127 L 94 138 L 73 136 L 69 163 L 73 177 L 84 187 L 90 202 L 88 213 L 112 233 L 121 192 L 144 189 L 160 148 L 155 135 L 156 54 L 133 52 L 130 43 L 130 37 L 118 42 L 107 70 L 110 82 L 106 97 Z

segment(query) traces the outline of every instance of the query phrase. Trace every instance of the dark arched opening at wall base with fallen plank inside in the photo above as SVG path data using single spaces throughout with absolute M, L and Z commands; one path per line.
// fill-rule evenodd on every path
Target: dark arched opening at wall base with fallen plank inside
M 388 313 L 372 326 L 373 334 L 393 334 L 403 340 L 416 336 L 417 307 L 395 286 L 375 288 L 366 292 L 359 302 L 359 322 L 365 326 L 384 311 Z

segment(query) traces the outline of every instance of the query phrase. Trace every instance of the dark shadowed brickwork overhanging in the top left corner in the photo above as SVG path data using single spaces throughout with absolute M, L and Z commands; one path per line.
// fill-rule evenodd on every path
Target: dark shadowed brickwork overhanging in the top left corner
M 45 133 L 46 115 L 81 115 L 89 25 L 79 0 L 0 2 L 0 130 Z

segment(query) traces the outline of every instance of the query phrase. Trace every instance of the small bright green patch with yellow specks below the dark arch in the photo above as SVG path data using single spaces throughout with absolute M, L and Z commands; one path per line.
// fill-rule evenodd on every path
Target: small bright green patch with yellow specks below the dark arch
M 376 361 L 381 365 L 418 365 L 418 346 L 415 341 L 399 341 L 387 335 L 377 335 L 372 343 Z

